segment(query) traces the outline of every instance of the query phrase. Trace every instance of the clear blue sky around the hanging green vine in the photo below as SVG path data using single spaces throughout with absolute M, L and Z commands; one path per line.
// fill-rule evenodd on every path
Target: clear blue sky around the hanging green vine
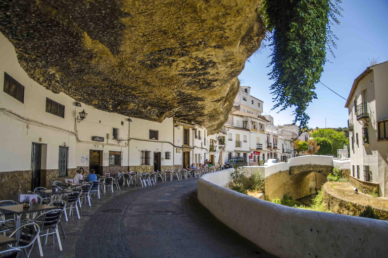
M 341 24 L 332 30 L 337 36 L 335 58 L 328 53 L 331 63 L 326 62 L 321 82 L 341 96 L 348 98 L 354 79 L 368 66 L 369 59 L 388 60 L 388 1 L 343 1 L 345 9 L 339 17 Z M 266 42 L 268 43 L 268 42 Z M 274 117 L 275 124 L 290 123 L 294 119 L 292 109 L 276 113 L 269 86 L 272 82 L 267 74 L 271 53 L 269 47 L 260 48 L 246 62 L 244 71 L 238 76 L 241 86 L 250 86 L 251 95 L 264 101 L 264 113 Z M 387 86 L 388 87 L 388 86 Z M 322 84 L 316 85 L 318 99 L 307 109 L 309 127 L 346 127 L 348 109 L 345 100 L 338 97 Z

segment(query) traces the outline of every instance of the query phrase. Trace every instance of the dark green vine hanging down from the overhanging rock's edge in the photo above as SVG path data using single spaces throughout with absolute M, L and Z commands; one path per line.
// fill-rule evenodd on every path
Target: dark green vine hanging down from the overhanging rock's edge
M 317 98 L 319 82 L 326 62 L 326 51 L 332 53 L 335 36 L 330 25 L 339 24 L 341 0 L 268 0 L 263 5 L 263 19 L 273 29 L 272 59 L 268 74 L 275 105 L 280 111 L 295 106 L 294 122 L 307 125 L 306 108 Z

